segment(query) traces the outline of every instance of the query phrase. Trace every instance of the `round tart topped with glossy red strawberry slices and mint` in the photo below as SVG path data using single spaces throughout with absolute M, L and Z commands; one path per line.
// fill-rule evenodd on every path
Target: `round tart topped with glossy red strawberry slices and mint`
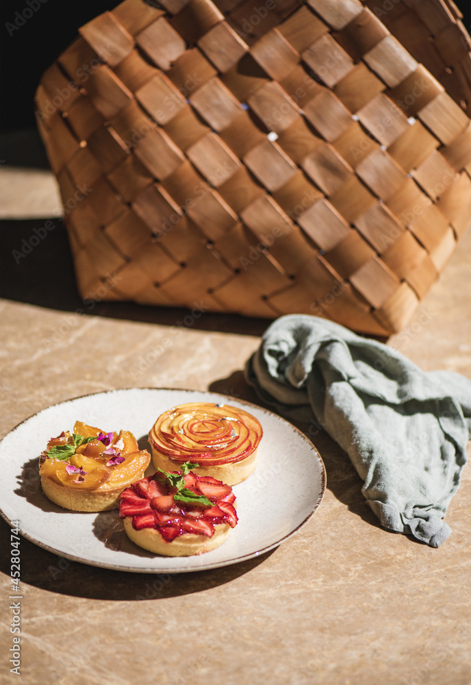
M 155 554 L 191 556 L 221 545 L 238 519 L 232 488 L 211 476 L 160 469 L 120 495 L 127 536 Z

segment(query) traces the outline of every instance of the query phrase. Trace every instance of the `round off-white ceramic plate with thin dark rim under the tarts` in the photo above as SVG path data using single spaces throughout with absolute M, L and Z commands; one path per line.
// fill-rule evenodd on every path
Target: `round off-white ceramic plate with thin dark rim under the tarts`
M 47 441 L 76 419 L 107 431 L 130 430 L 147 446 L 162 412 L 186 402 L 227 403 L 257 417 L 264 429 L 257 468 L 234 486 L 239 522 L 223 545 L 201 556 L 163 557 L 127 538 L 117 510 L 80 513 L 53 504 L 40 488 L 38 456 Z M 154 469 L 149 467 L 149 473 Z M 216 393 L 160 388 L 110 390 L 42 410 L 0 443 L 0 513 L 36 545 L 73 561 L 138 573 L 216 569 L 277 547 L 314 514 L 325 490 L 324 464 L 312 443 L 288 421 L 251 403 Z

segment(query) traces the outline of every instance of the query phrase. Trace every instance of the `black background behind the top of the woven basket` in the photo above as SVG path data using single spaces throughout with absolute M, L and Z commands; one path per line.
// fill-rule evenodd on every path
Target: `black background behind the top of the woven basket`
M 78 27 L 118 5 L 118 0 L 29 1 L 39 9 L 11 36 L 7 23 L 13 24 L 16 12 L 21 14 L 28 5 L 26 0 L 0 2 L 3 92 L 0 126 L 3 131 L 35 126 L 32 99 L 42 72 L 70 45 L 77 36 Z M 461 0 L 457 5 L 470 30 L 471 1 Z

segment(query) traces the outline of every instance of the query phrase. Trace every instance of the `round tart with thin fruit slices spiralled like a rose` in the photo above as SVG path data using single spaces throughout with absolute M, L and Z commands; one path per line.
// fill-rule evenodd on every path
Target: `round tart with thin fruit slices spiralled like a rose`
M 149 442 L 155 468 L 173 471 L 190 459 L 197 475 L 236 485 L 255 469 L 262 426 L 255 416 L 227 404 L 181 404 L 161 414 Z

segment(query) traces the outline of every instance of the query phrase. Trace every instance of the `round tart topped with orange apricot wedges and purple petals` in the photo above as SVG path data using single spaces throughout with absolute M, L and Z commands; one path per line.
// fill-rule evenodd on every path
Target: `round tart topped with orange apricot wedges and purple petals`
M 104 433 L 76 421 L 73 433 L 51 438 L 40 456 L 42 492 L 77 512 L 116 509 L 120 493 L 144 477 L 150 462 L 129 431 Z

